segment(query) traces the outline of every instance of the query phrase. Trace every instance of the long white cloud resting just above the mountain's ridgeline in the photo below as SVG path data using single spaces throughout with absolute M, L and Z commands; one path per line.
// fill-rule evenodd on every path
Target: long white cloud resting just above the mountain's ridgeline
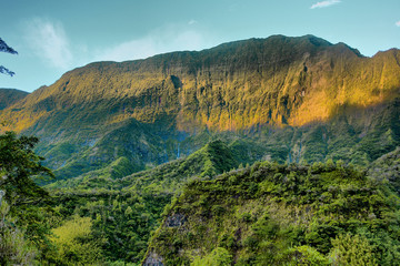
M 98 50 L 96 61 L 127 61 L 144 59 L 159 53 L 199 50 L 209 44 L 201 33 L 178 25 L 163 27 L 140 39 L 130 40 L 112 48 Z

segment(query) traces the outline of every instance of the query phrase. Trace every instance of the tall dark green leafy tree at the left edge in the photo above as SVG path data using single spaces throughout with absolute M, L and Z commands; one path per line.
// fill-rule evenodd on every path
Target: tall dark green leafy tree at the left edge
M 50 231 L 40 203 L 49 198 L 49 194 L 37 182 L 54 175 L 41 165 L 43 158 L 33 151 L 38 141 L 34 136 L 17 136 L 14 132 L 0 134 L 0 192 L 3 195 L 2 206 L 9 206 L 2 219 L 14 221 L 0 225 L 0 238 L 23 232 L 24 238 L 43 250 L 48 246 Z M 6 246 L 1 249 L 8 250 Z

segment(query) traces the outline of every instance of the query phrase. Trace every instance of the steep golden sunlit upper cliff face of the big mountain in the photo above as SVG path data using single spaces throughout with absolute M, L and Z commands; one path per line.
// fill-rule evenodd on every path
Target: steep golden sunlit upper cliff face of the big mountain
M 32 93 L 13 115 L 34 114 L 19 130 L 77 109 L 106 123 L 171 117 L 186 131 L 303 125 L 327 120 L 344 104 L 368 106 L 398 93 L 399 61 L 398 50 L 363 58 L 311 35 L 251 39 L 201 52 L 92 63 Z M 92 115 L 76 121 L 92 124 Z

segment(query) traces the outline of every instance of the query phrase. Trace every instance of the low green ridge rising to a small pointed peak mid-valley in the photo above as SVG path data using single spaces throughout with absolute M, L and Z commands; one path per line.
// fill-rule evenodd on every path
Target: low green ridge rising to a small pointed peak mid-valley
M 173 195 L 190 178 L 210 178 L 238 166 L 239 163 L 232 150 L 218 140 L 208 143 L 186 158 L 176 160 L 132 175 L 127 174 L 129 162 L 122 157 L 108 167 L 91 171 L 74 178 L 58 181 L 47 187 L 62 192 L 111 190 Z

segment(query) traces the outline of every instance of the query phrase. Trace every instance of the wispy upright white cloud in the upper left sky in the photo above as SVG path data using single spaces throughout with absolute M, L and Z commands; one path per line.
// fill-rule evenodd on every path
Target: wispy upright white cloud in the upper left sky
M 34 54 L 51 66 L 67 70 L 72 62 L 70 43 L 60 22 L 40 18 L 26 24 L 26 41 Z

